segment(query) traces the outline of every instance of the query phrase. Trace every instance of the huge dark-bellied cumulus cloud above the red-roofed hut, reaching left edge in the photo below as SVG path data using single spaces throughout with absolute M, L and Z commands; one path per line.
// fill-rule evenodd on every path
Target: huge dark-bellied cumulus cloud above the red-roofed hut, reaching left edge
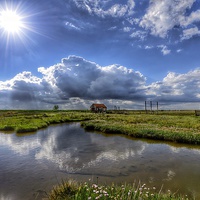
M 139 100 L 144 98 L 145 77 L 120 65 L 99 66 L 81 57 L 69 56 L 48 68 L 40 67 L 42 78 L 22 72 L 13 79 L 1 82 L 0 101 L 5 97 L 16 108 L 30 104 L 65 104 L 69 107 L 88 107 L 96 100 Z M 4 98 L 3 98 L 4 97 Z M 37 102 L 37 103 L 36 103 Z M 2 104 L 5 105 L 5 104 Z M 10 106 L 12 106 L 10 104 Z M 34 106 L 33 106 L 34 105 Z

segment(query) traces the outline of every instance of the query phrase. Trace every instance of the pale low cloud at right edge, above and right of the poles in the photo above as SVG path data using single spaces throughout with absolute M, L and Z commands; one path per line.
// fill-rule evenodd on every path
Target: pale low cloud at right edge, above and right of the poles
M 153 95 L 159 101 L 195 102 L 200 98 L 200 69 L 186 74 L 169 72 L 159 82 L 149 86 L 149 95 Z

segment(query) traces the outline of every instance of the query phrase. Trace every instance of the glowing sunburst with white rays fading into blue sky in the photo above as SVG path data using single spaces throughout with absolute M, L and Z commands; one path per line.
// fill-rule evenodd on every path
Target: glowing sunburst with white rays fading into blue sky
M 9 48 L 14 46 L 24 46 L 28 50 L 35 45 L 32 33 L 42 35 L 42 30 L 38 30 L 35 23 L 37 15 L 39 13 L 25 3 L 5 3 L 0 6 L 0 40 L 5 47 L 6 55 Z

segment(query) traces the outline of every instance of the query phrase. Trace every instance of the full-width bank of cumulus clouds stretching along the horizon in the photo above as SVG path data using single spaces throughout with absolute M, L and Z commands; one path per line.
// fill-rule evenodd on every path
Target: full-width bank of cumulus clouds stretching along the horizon
M 160 47 L 164 48 L 164 46 Z M 186 74 L 170 72 L 159 82 L 146 84 L 138 71 L 120 65 L 100 66 L 77 56 L 38 71 L 22 72 L 0 82 L 0 109 L 88 109 L 105 103 L 127 109 L 143 109 L 145 100 L 199 102 L 200 69 Z

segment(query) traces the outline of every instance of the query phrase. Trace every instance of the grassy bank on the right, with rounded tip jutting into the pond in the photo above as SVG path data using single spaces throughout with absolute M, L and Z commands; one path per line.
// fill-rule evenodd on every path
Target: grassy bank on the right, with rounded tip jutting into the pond
M 200 144 L 200 118 L 194 116 L 194 113 L 112 114 L 84 121 L 81 125 L 88 130 L 125 134 L 135 138 Z

